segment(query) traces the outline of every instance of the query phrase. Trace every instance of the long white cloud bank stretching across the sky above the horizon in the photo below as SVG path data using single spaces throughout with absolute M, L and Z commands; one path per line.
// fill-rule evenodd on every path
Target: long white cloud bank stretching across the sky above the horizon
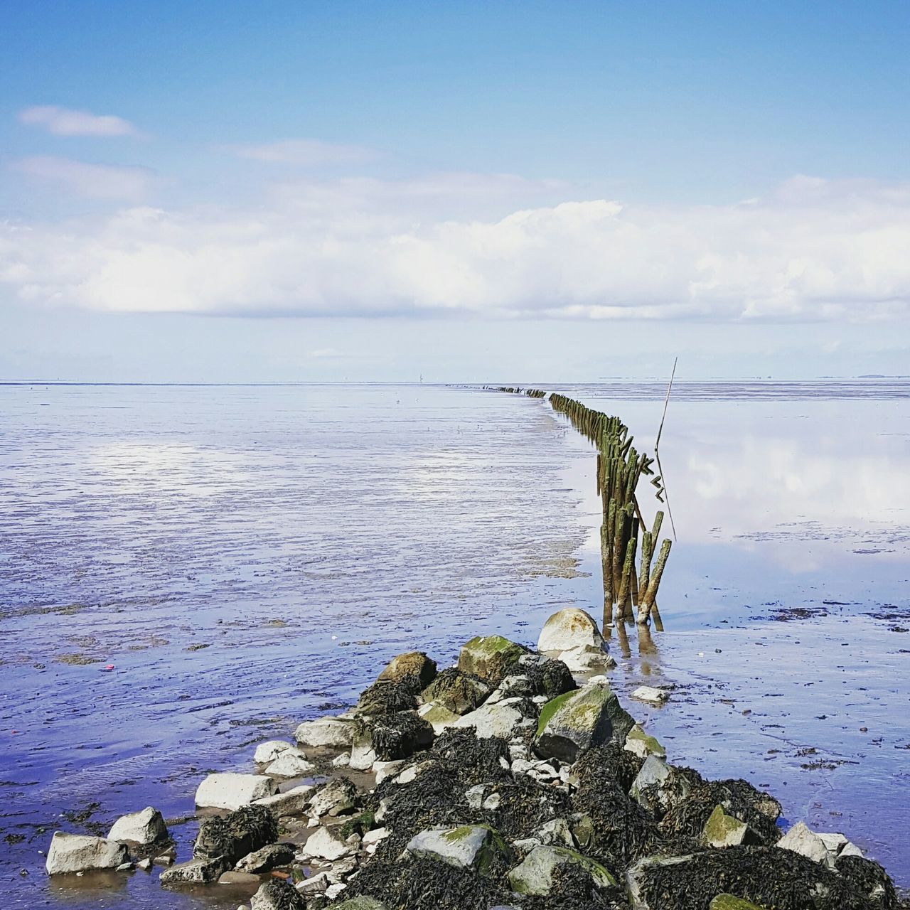
M 541 204 L 553 191 L 463 175 L 305 181 L 249 210 L 7 226 L 0 280 L 35 302 L 250 316 L 910 314 L 908 185 L 797 178 L 766 198 L 688 207 Z

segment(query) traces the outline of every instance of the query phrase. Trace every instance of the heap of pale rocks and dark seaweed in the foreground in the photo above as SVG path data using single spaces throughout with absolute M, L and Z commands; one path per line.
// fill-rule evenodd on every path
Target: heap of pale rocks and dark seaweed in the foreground
M 106 837 L 55 834 L 47 871 L 158 875 L 251 910 L 910 905 L 847 833 L 784 830 L 773 794 L 668 761 L 633 714 L 672 693 L 623 705 L 614 667 L 578 609 L 537 650 L 475 636 L 442 671 L 400 654 L 348 711 L 258 743 L 258 773 L 202 778 L 191 852 L 147 807 Z

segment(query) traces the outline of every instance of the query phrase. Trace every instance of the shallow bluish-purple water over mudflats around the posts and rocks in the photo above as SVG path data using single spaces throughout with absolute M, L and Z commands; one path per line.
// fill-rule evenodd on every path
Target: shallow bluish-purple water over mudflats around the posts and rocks
M 659 423 L 659 385 L 565 390 L 642 440 Z M 249 768 L 252 743 L 349 702 L 395 652 L 445 662 L 475 632 L 532 643 L 561 606 L 596 612 L 593 457 L 543 402 L 5 386 L 0 412 L 9 904 L 236 907 L 155 875 L 48 883 L 37 851 L 86 804 L 103 833 L 147 804 L 190 813 L 204 773 Z M 905 884 L 908 446 L 908 384 L 677 386 L 668 631 L 632 634 L 616 673 L 680 686 L 634 711 L 672 759 L 769 784 Z

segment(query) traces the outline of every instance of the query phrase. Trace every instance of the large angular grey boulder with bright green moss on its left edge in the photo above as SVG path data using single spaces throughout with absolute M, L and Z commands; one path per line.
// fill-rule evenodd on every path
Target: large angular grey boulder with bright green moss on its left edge
M 591 746 L 624 743 L 634 721 L 604 683 L 565 693 L 541 708 L 534 751 L 572 763 Z

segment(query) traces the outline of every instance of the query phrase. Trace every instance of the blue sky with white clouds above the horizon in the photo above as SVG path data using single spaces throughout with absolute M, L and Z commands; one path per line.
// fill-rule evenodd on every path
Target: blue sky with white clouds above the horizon
M 0 380 L 910 374 L 910 5 L 9 0 Z

